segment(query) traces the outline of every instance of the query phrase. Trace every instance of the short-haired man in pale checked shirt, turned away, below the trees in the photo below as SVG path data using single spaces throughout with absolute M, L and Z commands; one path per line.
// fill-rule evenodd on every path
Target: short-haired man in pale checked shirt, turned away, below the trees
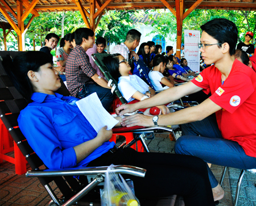
M 125 43 L 121 43 L 120 45 L 115 45 L 110 54 L 119 53 L 126 60 L 129 60 L 129 56 L 135 57 L 136 60 L 139 59 L 137 53 L 134 52 L 139 45 L 139 41 L 141 41 L 141 32 L 137 30 L 130 30 L 126 35 Z

